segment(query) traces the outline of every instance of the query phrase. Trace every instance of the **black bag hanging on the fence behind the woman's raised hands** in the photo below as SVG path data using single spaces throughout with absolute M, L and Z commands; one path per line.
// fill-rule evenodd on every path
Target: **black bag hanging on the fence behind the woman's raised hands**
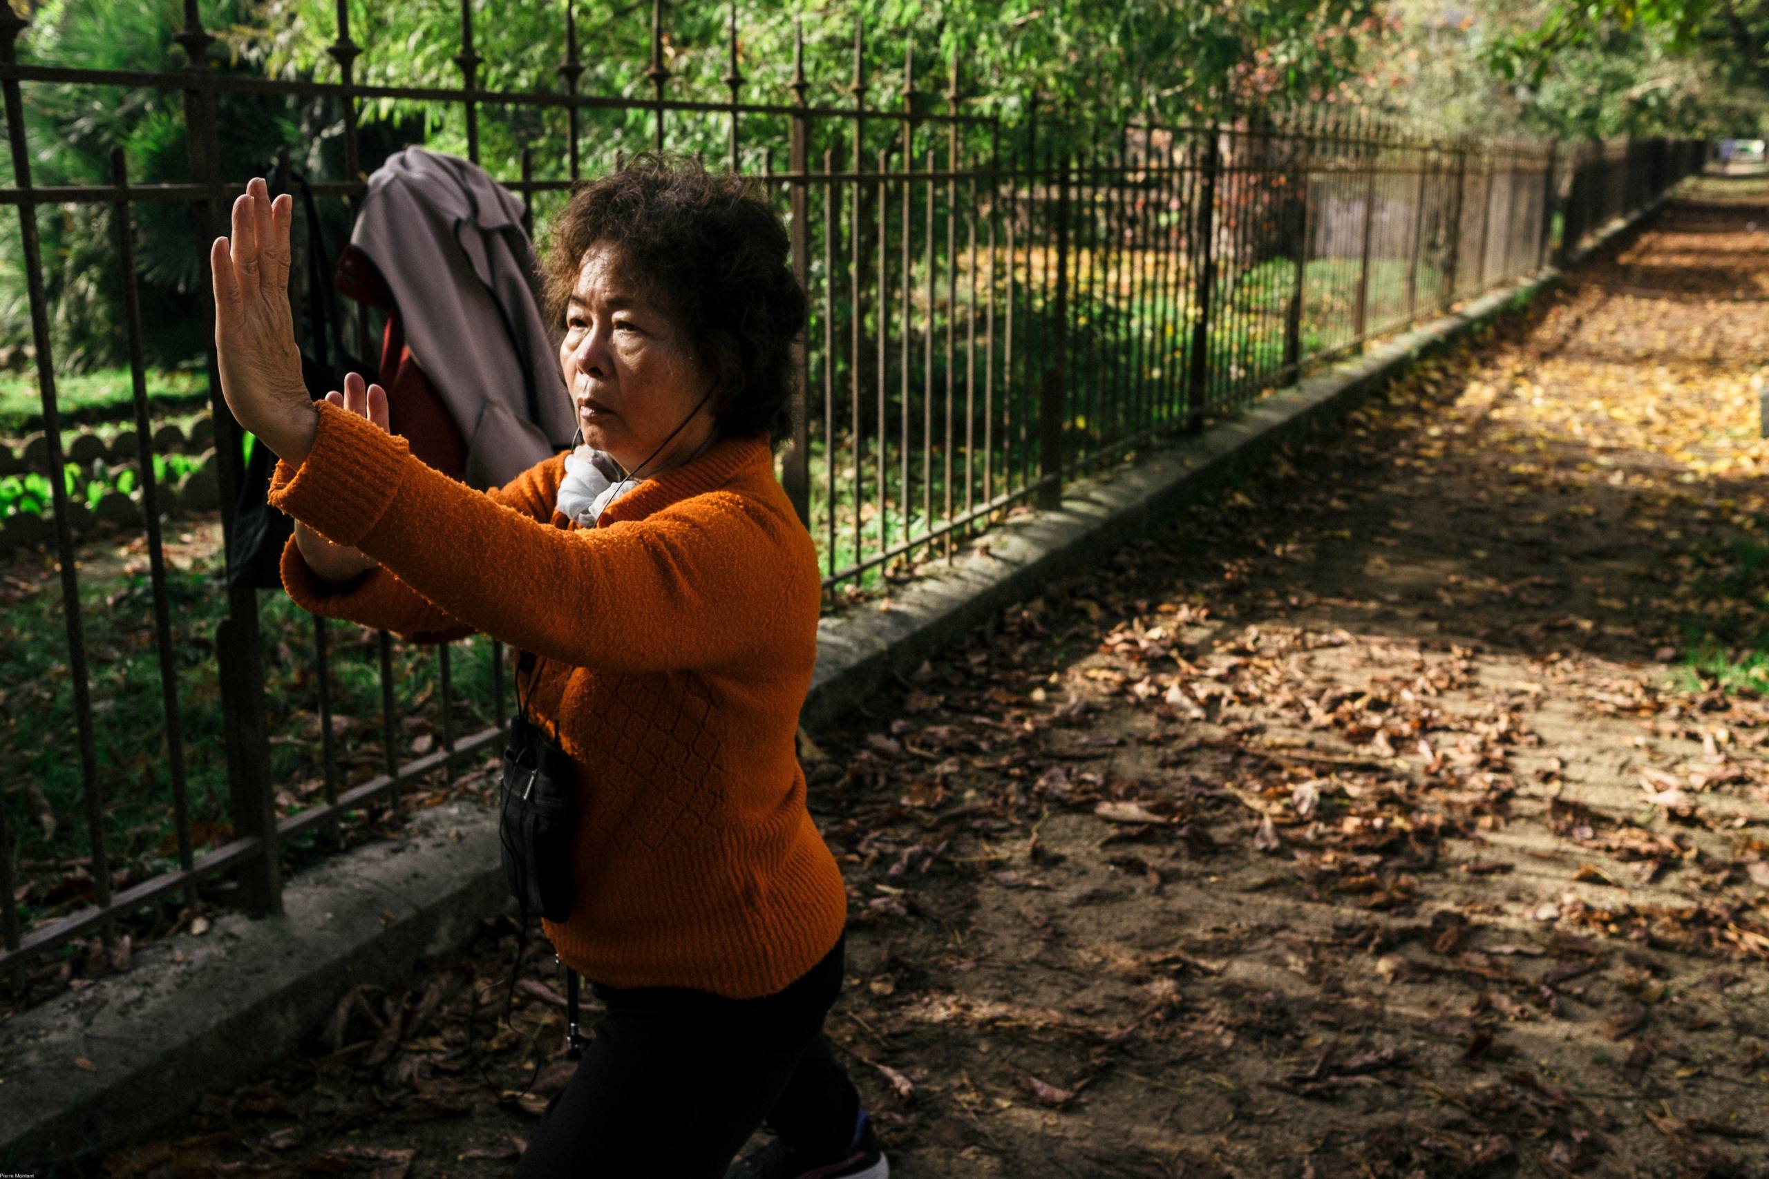
M 283 175 L 271 166 L 265 186 L 271 200 L 288 191 L 288 180 L 301 187 L 301 203 L 308 219 L 308 323 L 313 331 L 313 352 L 301 354 L 301 380 L 315 401 L 329 389 L 343 389 L 345 373 L 368 373 L 368 366 L 345 355 L 343 334 L 338 327 L 338 297 L 333 293 L 333 255 L 325 246 L 325 230 L 313 203 L 313 189 L 297 175 Z M 336 345 L 336 346 L 334 346 Z M 318 391 L 318 392 L 315 392 Z M 228 553 L 228 585 L 281 589 L 283 546 L 295 530 L 295 521 L 271 507 L 271 475 L 276 472 L 276 453 L 253 444 L 246 470 L 239 481 L 239 500 L 234 504 L 234 551 Z

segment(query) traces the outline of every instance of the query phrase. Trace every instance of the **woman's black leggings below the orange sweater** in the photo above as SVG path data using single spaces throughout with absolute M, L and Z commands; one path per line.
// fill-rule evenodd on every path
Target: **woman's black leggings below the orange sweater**
M 607 1015 L 517 1179 L 724 1179 L 764 1119 L 785 1142 L 840 1154 L 860 1094 L 823 1038 L 823 1016 L 842 990 L 844 942 L 761 999 L 591 983 Z

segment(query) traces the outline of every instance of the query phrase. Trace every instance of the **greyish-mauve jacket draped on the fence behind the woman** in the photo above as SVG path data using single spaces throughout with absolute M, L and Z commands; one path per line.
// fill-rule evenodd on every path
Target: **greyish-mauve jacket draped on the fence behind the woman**
M 501 486 L 571 444 L 559 336 L 541 318 L 524 205 L 483 168 L 409 147 L 368 179 L 350 244 L 393 290 L 412 359 Z

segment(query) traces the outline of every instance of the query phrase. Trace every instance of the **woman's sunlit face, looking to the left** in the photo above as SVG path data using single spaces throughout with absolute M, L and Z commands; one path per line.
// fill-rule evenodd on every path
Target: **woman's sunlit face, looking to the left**
M 584 428 L 584 442 L 607 451 L 626 470 L 646 460 L 640 477 L 676 467 L 713 428 L 711 387 L 674 316 L 646 300 L 619 270 L 610 246 L 584 251 L 566 304 L 559 368 Z M 683 421 L 693 414 L 693 421 Z M 681 431 L 670 438 L 670 433 Z M 665 445 L 665 438 L 669 444 Z M 653 451 L 658 451 L 651 458 Z

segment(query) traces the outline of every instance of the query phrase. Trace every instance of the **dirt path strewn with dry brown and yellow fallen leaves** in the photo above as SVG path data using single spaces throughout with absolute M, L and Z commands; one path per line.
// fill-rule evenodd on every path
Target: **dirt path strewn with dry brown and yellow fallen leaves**
M 1769 1174 L 1765 233 L 1707 182 L 816 734 L 893 1174 Z M 508 1174 L 509 947 L 104 1172 Z

